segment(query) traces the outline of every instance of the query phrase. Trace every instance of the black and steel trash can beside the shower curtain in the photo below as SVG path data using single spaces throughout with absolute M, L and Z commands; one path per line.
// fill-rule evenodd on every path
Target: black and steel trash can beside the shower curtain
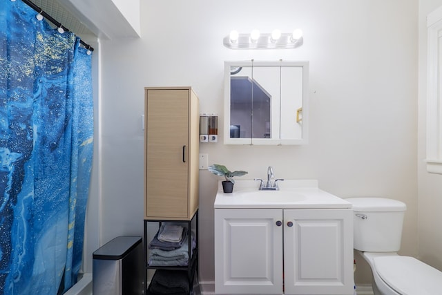
M 144 294 L 140 236 L 119 236 L 93 253 L 94 295 Z

